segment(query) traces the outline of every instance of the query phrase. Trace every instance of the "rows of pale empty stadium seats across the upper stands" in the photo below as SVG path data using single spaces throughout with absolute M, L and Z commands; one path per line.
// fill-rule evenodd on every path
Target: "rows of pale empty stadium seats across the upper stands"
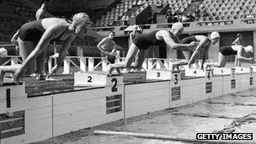
M 169 4 L 169 8 L 173 10 L 179 9 L 181 13 L 184 13 L 185 9 L 192 3 L 191 0 L 121 0 L 121 3 L 117 4 L 111 11 L 102 16 L 101 19 L 97 19 L 94 26 L 115 26 L 121 25 L 116 23 L 121 21 L 121 18 L 125 13 L 128 13 L 128 17 L 136 17 L 141 11 L 148 5 L 157 4 Z M 199 21 L 214 21 L 214 20 L 231 20 L 231 19 L 246 19 L 255 18 L 256 9 L 254 8 L 256 2 L 254 0 L 204 0 L 201 1 L 200 7 L 205 8 L 207 16 L 200 18 Z M 110 21 L 110 22 L 109 22 Z M 221 23 L 208 23 L 201 24 L 201 26 L 209 25 L 223 25 Z

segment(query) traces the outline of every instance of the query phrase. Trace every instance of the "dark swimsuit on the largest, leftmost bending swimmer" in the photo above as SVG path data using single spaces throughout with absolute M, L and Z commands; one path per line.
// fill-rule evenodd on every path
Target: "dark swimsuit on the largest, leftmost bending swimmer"
M 51 40 L 51 44 L 56 40 L 60 40 L 61 36 L 64 35 L 67 29 L 56 39 Z M 23 24 L 19 29 L 18 37 L 20 40 L 31 41 L 37 44 L 40 38 L 42 37 L 42 35 L 44 34 L 44 32 L 45 32 L 45 29 L 43 28 L 43 25 L 42 25 L 42 19 L 38 19 L 35 21 L 31 21 L 29 23 Z

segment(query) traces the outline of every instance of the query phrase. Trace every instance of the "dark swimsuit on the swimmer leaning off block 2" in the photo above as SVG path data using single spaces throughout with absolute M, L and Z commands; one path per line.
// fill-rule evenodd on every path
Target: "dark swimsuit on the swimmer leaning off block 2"
M 152 31 L 148 34 L 136 35 L 132 42 L 140 49 L 147 50 L 152 45 L 162 45 L 164 40 L 157 40 L 156 33 L 159 30 Z

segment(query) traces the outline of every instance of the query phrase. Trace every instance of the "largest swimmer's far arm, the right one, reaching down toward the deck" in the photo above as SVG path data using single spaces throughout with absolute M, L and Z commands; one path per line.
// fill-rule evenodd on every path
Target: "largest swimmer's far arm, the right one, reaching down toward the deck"
M 61 51 L 59 52 L 59 56 L 56 59 L 56 66 L 52 67 L 51 72 L 47 75 L 46 78 L 51 77 L 53 73 L 55 73 L 62 65 L 65 57 L 67 56 L 68 49 L 70 45 L 72 44 L 72 41 L 76 39 L 76 36 L 71 36 L 67 40 L 63 42 L 63 45 L 61 47 Z

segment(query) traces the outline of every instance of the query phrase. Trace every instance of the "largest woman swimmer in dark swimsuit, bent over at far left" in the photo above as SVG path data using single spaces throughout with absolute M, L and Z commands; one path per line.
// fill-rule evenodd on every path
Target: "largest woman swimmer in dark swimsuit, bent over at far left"
M 43 51 L 53 40 L 61 40 L 62 47 L 57 57 L 56 66 L 51 69 L 51 72 L 46 77 L 49 78 L 52 73 L 61 67 L 72 41 L 77 36 L 83 38 L 91 24 L 92 22 L 87 13 L 77 13 L 73 16 L 72 21 L 48 18 L 38 19 L 22 25 L 18 30 L 18 43 L 23 64 L 22 67 L 14 72 L 14 82 L 19 82 L 19 77 L 21 77 L 27 67 L 36 66 L 35 59 L 37 57 L 44 57 Z M 37 61 L 44 64 L 45 58 L 37 59 Z M 43 70 L 40 72 L 43 72 Z

